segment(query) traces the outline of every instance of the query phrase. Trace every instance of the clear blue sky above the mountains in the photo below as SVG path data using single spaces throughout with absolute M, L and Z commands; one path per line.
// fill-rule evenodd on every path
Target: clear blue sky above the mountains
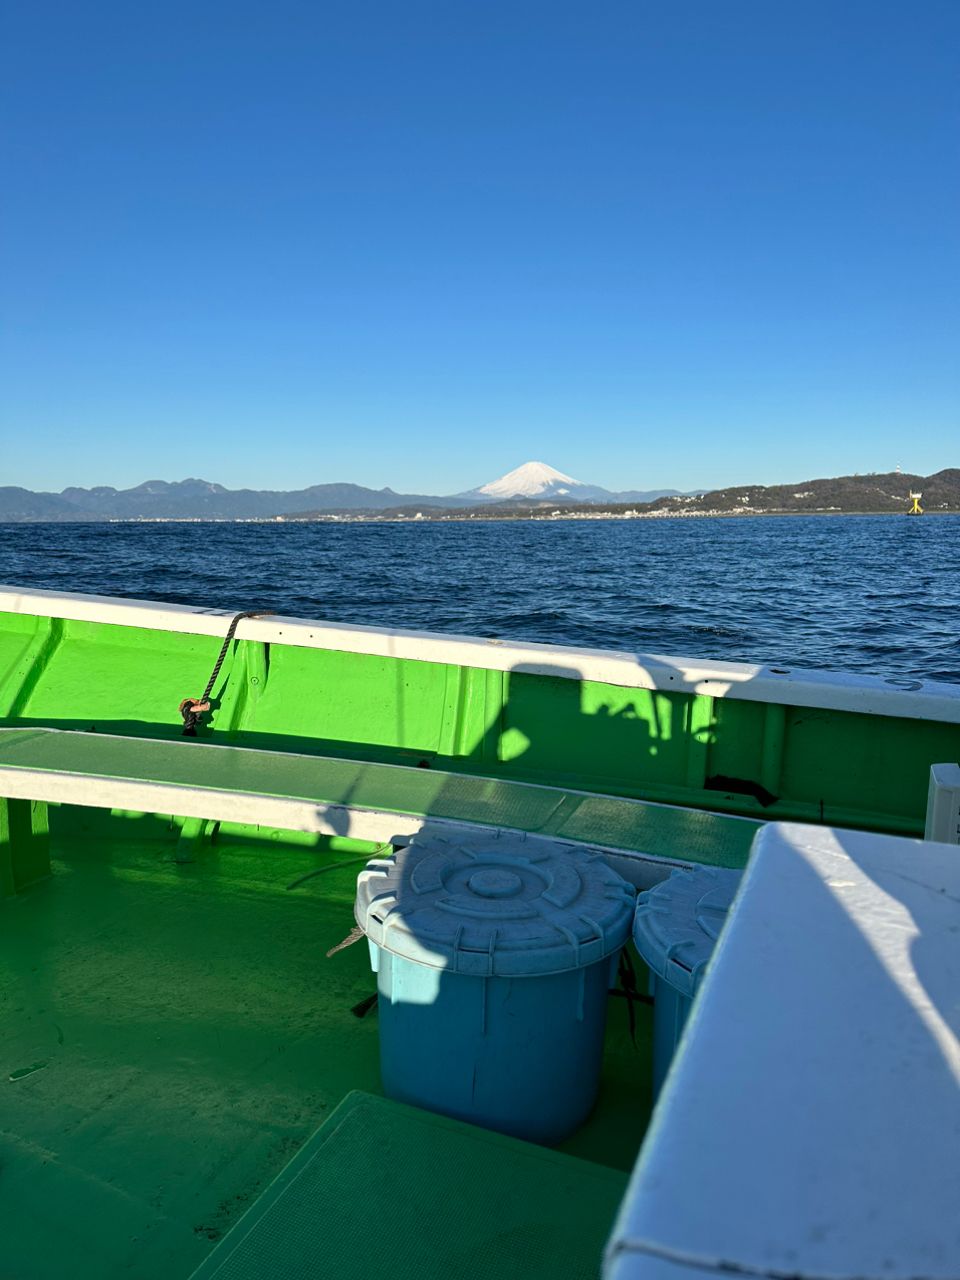
M 957 0 L 12 10 L 0 484 L 960 465 Z

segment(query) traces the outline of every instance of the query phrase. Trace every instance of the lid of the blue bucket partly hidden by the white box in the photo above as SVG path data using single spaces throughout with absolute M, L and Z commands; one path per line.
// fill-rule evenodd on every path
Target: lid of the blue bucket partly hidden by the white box
M 742 872 L 719 867 L 677 869 L 640 895 L 634 942 L 650 969 L 676 991 L 694 996 Z

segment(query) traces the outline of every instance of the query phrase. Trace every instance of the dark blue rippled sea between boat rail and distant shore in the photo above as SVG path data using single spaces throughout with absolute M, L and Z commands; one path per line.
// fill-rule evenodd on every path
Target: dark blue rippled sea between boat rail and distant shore
M 0 584 L 960 682 L 960 518 L 0 525 Z

